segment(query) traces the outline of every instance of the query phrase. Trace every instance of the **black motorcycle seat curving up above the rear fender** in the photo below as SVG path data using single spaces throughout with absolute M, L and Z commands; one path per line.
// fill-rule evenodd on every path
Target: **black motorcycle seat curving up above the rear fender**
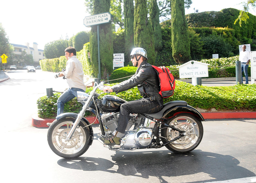
M 175 100 L 175 101 L 167 102 L 163 105 L 163 108 L 160 111 L 154 112 L 154 113 L 147 113 L 145 115 L 149 116 L 151 118 L 161 119 L 164 115 L 164 112 L 167 109 L 170 109 L 171 107 L 178 106 L 178 105 L 186 105 L 187 106 L 188 103 L 185 101 L 182 101 L 182 100 Z

